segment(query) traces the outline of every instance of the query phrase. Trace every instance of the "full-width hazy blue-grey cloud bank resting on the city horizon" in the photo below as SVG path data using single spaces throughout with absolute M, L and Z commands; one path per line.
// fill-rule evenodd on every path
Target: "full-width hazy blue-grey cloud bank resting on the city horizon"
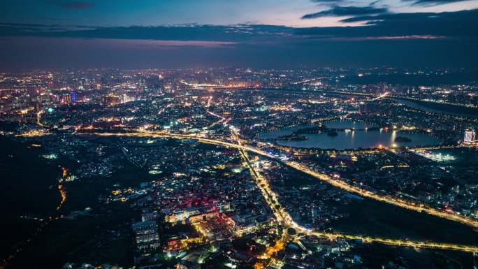
M 14 35 L 0 29 L 0 70 L 384 65 L 476 68 L 478 38 L 470 38 L 469 34 L 463 38 L 450 36 L 449 30 L 440 31 L 446 35 L 417 34 L 420 32 L 430 31 L 419 27 L 404 31 L 379 24 L 300 29 L 266 25 L 249 25 L 247 29 L 103 27 L 17 31 Z

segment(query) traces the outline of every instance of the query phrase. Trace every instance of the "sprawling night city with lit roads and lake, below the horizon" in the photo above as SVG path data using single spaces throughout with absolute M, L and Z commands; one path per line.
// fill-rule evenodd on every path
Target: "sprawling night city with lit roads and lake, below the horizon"
M 464 68 L 0 73 L 0 268 L 477 268 Z

